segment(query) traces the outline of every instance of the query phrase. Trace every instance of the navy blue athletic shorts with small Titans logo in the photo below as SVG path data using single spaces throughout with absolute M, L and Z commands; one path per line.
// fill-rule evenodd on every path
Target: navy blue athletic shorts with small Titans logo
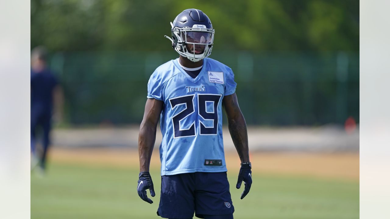
M 226 172 L 182 173 L 161 177 L 157 215 L 164 218 L 199 218 L 233 214 Z

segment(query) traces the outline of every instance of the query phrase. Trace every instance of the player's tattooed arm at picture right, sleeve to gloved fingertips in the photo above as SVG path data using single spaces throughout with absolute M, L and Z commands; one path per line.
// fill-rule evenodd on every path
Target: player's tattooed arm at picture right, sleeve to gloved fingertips
M 236 147 L 241 160 L 241 168 L 238 174 L 236 188 L 239 189 L 241 183 L 244 182 L 245 188 L 241 194 L 241 199 L 243 199 L 249 193 L 252 185 L 252 166 L 249 161 L 246 122 L 238 105 L 236 93 L 223 97 L 222 104 L 226 111 L 230 136 L 232 137 L 234 146 Z

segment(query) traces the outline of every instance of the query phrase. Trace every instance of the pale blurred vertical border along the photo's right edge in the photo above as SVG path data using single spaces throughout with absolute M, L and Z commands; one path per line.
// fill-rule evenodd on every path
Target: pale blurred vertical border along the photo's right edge
M 360 1 L 360 219 L 390 218 L 389 8 Z

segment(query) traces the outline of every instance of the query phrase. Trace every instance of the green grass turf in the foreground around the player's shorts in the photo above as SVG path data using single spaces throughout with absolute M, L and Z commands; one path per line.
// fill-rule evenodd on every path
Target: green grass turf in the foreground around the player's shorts
M 236 174 L 228 172 L 236 219 L 359 218 L 358 182 L 253 173 L 252 189 L 240 200 Z M 137 169 L 51 163 L 44 178 L 31 176 L 31 218 L 161 218 L 156 215 L 161 178 L 158 170 L 151 175 L 153 204 L 138 197 Z

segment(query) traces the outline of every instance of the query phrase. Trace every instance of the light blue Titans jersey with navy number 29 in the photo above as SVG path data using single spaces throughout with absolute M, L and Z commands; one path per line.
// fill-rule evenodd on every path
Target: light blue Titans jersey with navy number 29
M 222 99 L 233 94 L 237 84 L 232 69 L 211 58 L 203 60 L 196 78 L 183 70 L 177 58 L 158 67 L 149 79 L 147 98 L 164 102 L 161 175 L 227 171 Z

